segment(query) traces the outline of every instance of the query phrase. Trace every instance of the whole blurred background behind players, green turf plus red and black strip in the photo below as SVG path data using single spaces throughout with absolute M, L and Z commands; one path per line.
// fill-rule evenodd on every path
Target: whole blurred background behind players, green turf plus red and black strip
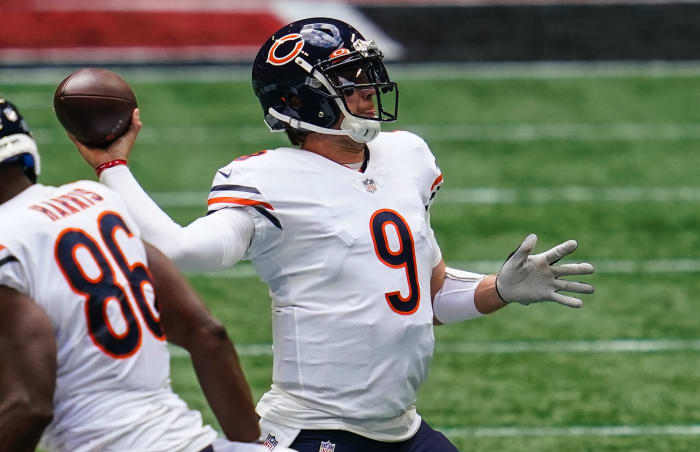
M 94 178 L 54 117 L 56 85 L 105 66 L 144 129 L 130 165 L 185 224 L 214 171 L 285 143 L 250 87 L 291 20 L 347 20 L 387 50 L 389 129 L 426 138 L 445 174 L 433 226 L 448 264 L 496 271 L 527 233 L 576 238 L 586 306 L 514 306 L 436 330 L 419 411 L 463 451 L 700 450 L 700 3 L 627 0 L 0 0 L 0 96 L 17 103 L 45 184 Z M 12 221 L 0 218 L 0 221 Z M 190 274 L 228 326 L 257 399 L 269 298 L 252 268 Z M 215 423 L 188 357 L 173 385 Z

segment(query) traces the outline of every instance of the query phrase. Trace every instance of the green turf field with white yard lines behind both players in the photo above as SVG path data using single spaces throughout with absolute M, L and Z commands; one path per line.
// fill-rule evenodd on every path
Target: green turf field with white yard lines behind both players
M 400 121 L 445 175 L 432 210 L 449 264 L 489 272 L 530 232 L 575 238 L 599 272 L 581 310 L 508 307 L 436 329 L 418 408 L 462 451 L 700 450 L 700 76 L 399 75 Z M 0 84 L 36 130 L 42 182 L 94 178 L 51 110 L 54 84 Z M 215 170 L 284 144 L 247 81 L 133 82 L 130 165 L 178 221 Z M 569 259 L 571 260 L 571 259 Z M 270 384 L 269 299 L 242 264 L 190 275 L 228 326 L 257 399 Z M 189 360 L 175 389 L 215 422 Z

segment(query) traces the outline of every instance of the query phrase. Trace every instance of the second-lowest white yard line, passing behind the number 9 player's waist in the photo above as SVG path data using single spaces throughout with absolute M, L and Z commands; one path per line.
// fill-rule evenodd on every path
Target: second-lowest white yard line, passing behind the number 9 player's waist
M 186 358 L 182 348 L 169 345 L 174 358 Z M 272 356 L 271 344 L 236 344 L 241 356 Z M 597 341 L 437 342 L 435 352 L 455 355 L 521 353 L 654 353 L 700 352 L 700 339 L 620 339 Z

